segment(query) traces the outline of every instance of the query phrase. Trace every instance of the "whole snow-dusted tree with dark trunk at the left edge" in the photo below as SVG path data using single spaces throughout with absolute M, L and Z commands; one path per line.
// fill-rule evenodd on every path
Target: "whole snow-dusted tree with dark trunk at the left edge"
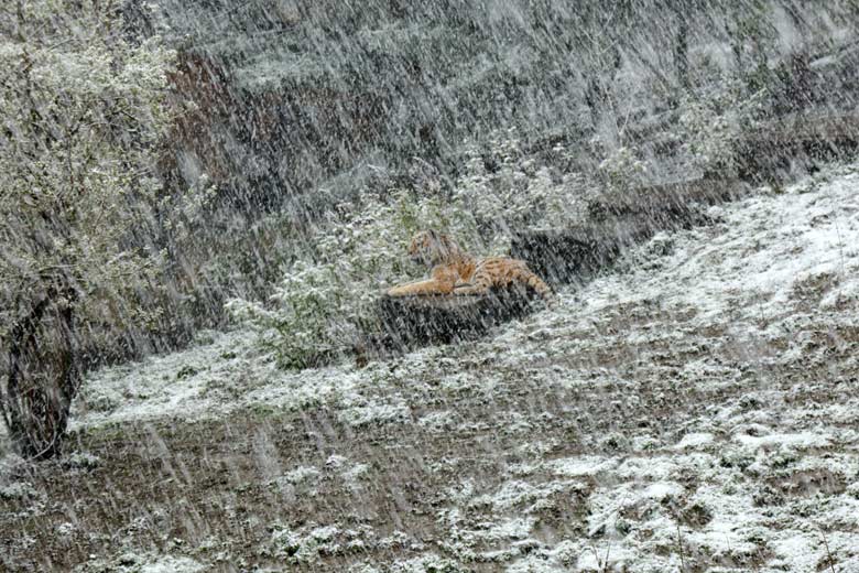
M 81 339 L 151 315 L 151 228 L 167 125 L 157 39 L 113 0 L 0 3 L 0 409 L 22 455 L 59 453 Z

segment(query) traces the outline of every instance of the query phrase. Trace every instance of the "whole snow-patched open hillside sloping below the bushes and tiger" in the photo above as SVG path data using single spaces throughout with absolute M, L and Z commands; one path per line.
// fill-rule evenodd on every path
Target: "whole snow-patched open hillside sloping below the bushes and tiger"
M 476 344 L 101 370 L 0 477 L 10 571 L 859 571 L 859 165 L 710 207 Z

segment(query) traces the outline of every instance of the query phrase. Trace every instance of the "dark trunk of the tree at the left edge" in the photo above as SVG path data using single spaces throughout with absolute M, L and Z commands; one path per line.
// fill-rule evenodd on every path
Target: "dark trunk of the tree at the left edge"
M 74 348 L 73 298 L 51 290 L 12 328 L 0 409 L 15 450 L 44 460 L 61 452 L 80 375 Z M 65 295 L 74 294 L 65 289 Z

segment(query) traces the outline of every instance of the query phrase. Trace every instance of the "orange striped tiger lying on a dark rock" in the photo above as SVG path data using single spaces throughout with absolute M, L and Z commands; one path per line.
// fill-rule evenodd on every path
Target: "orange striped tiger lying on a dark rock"
M 530 286 L 546 301 L 554 298 L 548 285 L 531 272 L 525 261 L 508 257 L 475 259 L 450 237 L 434 230 L 415 234 L 409 245 L 409 256 L 430 267 L 432 278 L 399 284 L 388 290 L 389 296 L 483 294 L 492 288 L 519 283 Z

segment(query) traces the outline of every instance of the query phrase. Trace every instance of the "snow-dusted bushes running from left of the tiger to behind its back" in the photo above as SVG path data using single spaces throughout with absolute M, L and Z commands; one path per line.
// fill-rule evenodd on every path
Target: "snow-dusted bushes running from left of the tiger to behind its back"
M 553 153 L 565 150 L 556 147 Z M 606 160 L 617 184 L 629 174 L 627 161 Z M 259 331 L 262 346 L 282 366 L 315 366 L 349 353 L 377 329 L 373 302 L 384 288 L 426 273 L 404 262 L 415 231 L 450 234 L 476 255 L 507 255 L 514 230 L 569 225 L 581 216 L 588 190 L 596 188 L 596 181 L 537 162 L 514 131 L 497 132 L 486 153 L 469 148 L 452 193 L 439 185 L 422 195 L 368 192 L 338 205 L 309 237 L 313 247 L 287 267 L 269 304 L 236 298 L 227 307 Z

